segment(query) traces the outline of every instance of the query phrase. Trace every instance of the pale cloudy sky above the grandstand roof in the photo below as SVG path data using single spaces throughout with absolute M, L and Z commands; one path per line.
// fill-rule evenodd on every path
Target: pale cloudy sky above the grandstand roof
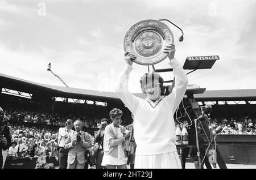
M 145 19 L 169 19 L 175 57 L 219 55 L 211 69 L 188 75 L 207 90 L 256 89 L 256 1 L 0 1 L 0 73 L 41 84 L 114 92 L 125 67 L 127 30 Z M 168 58 L 155 65 L 170 68 Z M 147 66 L 133 64 L 129 89 L 141 92 Z M 189 70 L 185 70 L 189 72 Z M 160 75 L 174 78 L 172 72 Z

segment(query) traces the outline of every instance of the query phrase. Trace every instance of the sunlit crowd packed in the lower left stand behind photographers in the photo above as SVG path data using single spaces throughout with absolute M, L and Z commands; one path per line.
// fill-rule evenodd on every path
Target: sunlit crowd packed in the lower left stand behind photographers
M 55 157 L 58 161 L 59 147 L 58 147 L 58 131 L 53 131 L 45 128 L 29 128 L 17 125 L 10 125 L 11 127 L 11 146 L 7 151 L 9 158 L 13 157 L 44 157 L 48 159 Z M 85 126 L 84 126 L 85 127 Z M 94 136 L 92 136 L 93 147 L 90 149 L 90 155 L 93 155 Z

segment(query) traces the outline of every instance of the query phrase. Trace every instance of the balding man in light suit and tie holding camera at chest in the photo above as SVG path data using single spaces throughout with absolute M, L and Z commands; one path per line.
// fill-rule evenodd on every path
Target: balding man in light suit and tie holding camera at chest
M 74 126 L 76 131 L 68 135 L 64 145 L 64 149 L 69 149 L 68 169 L 84 169 L 85 151 L 92 147 L 92 138 L 87 132 L 82 131 L 81 120 L 77 119 Z

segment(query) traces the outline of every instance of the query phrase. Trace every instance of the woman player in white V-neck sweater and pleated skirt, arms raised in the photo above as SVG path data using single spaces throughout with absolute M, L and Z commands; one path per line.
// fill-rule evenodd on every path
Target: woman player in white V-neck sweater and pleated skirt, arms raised
M 127 108 L 134 114 L 135 169 L 137 168 L 181 168 L 175 145 L 174 113 L 188 86 L 188 78 L 179 61 L 174 58 L 174 44 L 167 45 L 169 65 L 174 69 L 175 87 L 168 96 L 160 98 L 163 78 L 158 73 L 144 74 L 141 78 L 142 92 L 147 98 L 142 99 L 128 91 L 131 66 L 137 57 L 125 53 L 126 67 L 115 89 Z

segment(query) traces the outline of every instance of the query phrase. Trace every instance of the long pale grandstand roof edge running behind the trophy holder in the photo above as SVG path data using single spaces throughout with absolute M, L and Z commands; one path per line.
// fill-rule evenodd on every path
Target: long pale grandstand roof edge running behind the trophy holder
M 13 76 L 0 74 L 0 87 L 9 88 L 27 93 L 47 93 L 51 96 L 79 98 L 93 101 L 119 100 L 114 92 L 100 92 L 89 89 L 61 87 L 30 82 Z M 192 93 L 197 101 L 255 101 L 256 89 L 214 90 L 205 91 L 205 88 L 187 89 L 186 93 Z M 203 93 L 204 92 L 204 93 Z M 138 97 L 146 97 L 143 93 L 134 93 Z

